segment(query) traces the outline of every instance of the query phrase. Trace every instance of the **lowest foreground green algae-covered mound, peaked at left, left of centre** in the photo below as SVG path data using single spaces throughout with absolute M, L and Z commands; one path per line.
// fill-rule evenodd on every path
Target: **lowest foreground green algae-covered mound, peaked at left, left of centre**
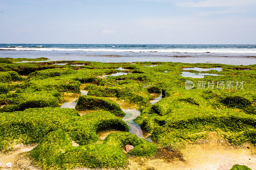
M 31 151 L 30 156 L 45 169 L 124 167 L 128 158 L 112 144 L 72 146 L 63 130 L 50 132 Z

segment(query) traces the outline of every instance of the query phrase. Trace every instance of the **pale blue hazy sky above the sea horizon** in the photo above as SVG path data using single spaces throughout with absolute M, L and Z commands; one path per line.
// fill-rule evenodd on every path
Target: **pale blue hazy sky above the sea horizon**
M 256 0 L 0 0 L 0 43 L 256 44 Z

